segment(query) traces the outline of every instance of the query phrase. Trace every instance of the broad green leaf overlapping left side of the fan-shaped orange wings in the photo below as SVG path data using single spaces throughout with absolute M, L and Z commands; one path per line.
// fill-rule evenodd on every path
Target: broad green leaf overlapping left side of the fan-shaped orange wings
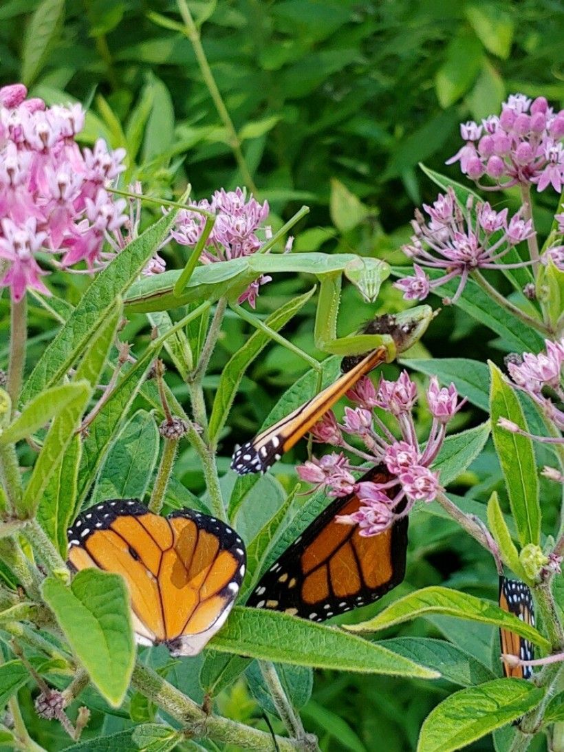
M 70 587 L 48 578 L 43 596 L 92 682 L 111 705 L 119 707 L 135 663 L 129 593 L 123 578 L 83 569 Z

